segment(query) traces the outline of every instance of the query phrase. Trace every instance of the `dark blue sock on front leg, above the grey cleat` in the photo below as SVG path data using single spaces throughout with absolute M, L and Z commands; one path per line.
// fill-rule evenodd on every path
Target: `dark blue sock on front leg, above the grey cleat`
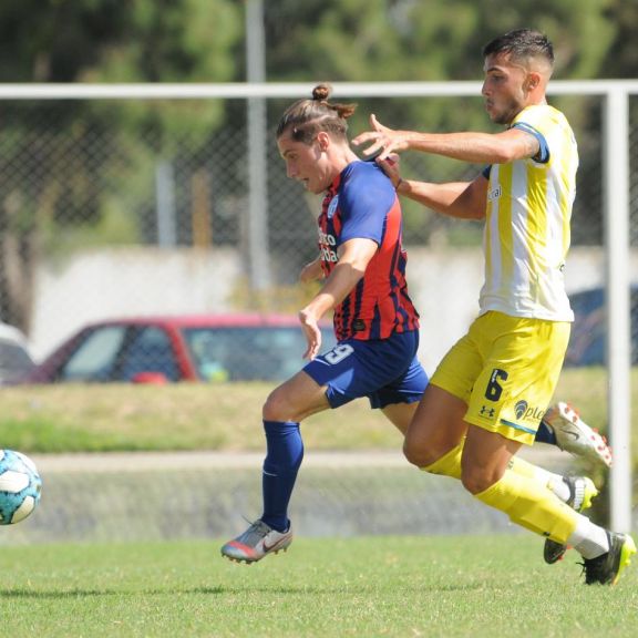
M 277 532 L 286 532 L 290 526 L 288 503 L 303 459 L 303 441 L 299 423 L 292 421 L 264 421 L 264 430 L 267 453 L 261 478 L 264 492 L 261 521 Z

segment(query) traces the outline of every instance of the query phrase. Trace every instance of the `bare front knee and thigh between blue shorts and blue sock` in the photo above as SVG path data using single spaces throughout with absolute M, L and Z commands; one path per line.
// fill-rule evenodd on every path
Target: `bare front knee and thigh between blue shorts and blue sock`
M 270 392 L 263 416 L 266 421 L 301 421 L 328 408 L 326 387 L 301 370 Z

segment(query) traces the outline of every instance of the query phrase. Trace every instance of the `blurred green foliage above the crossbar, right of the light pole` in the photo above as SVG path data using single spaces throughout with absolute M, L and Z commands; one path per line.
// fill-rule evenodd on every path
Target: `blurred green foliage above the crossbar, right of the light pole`
M 268 78 L 477 80 L 483 45 L 521 27 L 539 29 L 554 40 L 559 76 L 591 78 L 617 33 L 610 16 L 614 4 L 613 0 L 265 2 Z

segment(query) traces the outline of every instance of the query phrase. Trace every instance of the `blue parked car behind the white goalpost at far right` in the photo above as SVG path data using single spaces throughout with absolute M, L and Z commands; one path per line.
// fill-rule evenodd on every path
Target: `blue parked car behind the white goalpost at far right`
M 607 308 L 605 290 L 591 288 L 569 296 L 574 309 L 572 338 L 565 366 L 605 366 L 607 362 Z M 638 366 L 638 285 L 631 286 L 631 364 Z

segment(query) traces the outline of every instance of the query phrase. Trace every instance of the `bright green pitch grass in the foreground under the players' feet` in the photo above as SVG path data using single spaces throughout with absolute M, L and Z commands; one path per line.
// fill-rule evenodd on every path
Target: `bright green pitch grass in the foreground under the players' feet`
M 497 537 L 297 539 L 254 566 L 218 543 L 2 549 L 6 636 L 632 637 L 638 569 L 583 584 L 576 558 Z M 572 553 L 573 554 L 573 553 Z

